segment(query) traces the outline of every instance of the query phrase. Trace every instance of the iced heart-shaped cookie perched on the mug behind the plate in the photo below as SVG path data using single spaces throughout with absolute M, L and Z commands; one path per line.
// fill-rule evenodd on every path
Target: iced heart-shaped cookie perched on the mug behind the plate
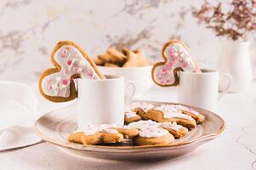
M 151 71 L 153 81 L 162 87 L 179 84 L 178 71 L 201 72 L 185 43 L 172 40 L 162 48 L 163 62 L 156 63 Z

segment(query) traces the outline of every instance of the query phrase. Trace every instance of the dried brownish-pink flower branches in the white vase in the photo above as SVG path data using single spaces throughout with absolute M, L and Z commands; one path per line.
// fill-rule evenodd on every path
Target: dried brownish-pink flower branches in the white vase
M 222 3 L 214 6 L 206 1 L 193 15 L 217 36 L 234 41 L 246 40 L 247 34 L 256 31 L 256 0 L 233 0 L 227 12 L 222 9 Z

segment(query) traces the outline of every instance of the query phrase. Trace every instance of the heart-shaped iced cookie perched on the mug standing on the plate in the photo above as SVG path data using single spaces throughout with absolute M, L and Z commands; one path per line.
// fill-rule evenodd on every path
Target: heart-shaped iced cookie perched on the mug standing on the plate
M 97 69 L 94 60 L 76 43 L 58 42 L 51 61 L 55 68 L 43 72 L 39 78 L 39 91 L 46 99 L 54 102 L 65 102 L 77 98 L 73 79 L 104 79 Z

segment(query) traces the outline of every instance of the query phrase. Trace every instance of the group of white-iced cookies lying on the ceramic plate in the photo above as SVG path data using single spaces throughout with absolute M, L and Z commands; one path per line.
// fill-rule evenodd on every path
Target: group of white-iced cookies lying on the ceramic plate
M 125 111 L 128 125 L 89 126 L 71 133 L 68 140 L 79 144 L 122 143 L 132 139 L 138 145 L 171 144 L 185 137 L 205 117 L 184 105 L 151 105 L 132 103 Z

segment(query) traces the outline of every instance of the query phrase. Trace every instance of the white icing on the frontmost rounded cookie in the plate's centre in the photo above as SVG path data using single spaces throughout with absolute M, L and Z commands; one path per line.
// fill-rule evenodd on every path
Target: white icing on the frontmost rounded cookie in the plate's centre
M 145 127 L 139 130 L 139 136 L 157 138 L 168 134 L 168 130 L 159 127 Z

